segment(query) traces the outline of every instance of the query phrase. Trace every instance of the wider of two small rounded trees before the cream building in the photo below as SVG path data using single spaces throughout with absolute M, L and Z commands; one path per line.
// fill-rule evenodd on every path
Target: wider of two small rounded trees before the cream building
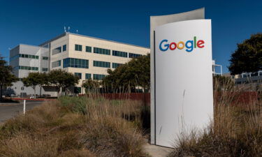
M 78 76 L 68 73 L 62 69 L 51 70 L 50 73 L 48 73 L 48 78 L 50 80 L 50 84 L 54 84 L 54 86 L 57 87 L 57 96 L 59 96 L 61 88 L 66 90 L 68 87 L 75 86 L 75 84 L 78 84 L 79 82 Z

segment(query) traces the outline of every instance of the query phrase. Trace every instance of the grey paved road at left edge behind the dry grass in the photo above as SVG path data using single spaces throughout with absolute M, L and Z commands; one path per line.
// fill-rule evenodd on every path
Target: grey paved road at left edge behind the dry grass
M 31 110 L 33 107 L 41 105 L 43 101 L 30 100 L 26 103 L 26 110 Z M 0 124 L 15 117 L 17 114 L 23 113 L 23 103 L 0 103 Z

